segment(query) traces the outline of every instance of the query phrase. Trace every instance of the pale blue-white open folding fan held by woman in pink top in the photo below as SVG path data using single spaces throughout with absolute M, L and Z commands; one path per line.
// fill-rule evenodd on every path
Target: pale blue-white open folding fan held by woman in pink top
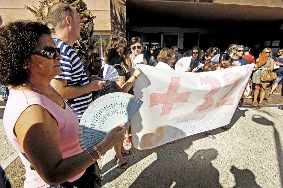
M 97 98 L 84 112 L 79 125 L 82 150 L 99 143 L 109 130 L 128 122 L 142 101 L 128 93 L 115 92 Z

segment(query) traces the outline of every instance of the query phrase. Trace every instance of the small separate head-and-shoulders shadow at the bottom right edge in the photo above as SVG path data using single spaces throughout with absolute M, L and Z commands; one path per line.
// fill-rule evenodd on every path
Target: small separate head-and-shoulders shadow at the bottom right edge
M 234 174 L 236 185 L 233 188 L 261 188 L 255 181 L 255 175 L 249 169 L 240 170 L 232 166 L 230 171 Z

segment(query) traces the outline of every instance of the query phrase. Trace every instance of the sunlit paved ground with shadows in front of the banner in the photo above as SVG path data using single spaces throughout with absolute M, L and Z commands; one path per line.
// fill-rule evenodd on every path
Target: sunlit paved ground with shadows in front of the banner
M 212 130 L 216 139 L 196 134 L 125 157 L 118 168 L 114 151 L 103 157 L 105 188 L 282 188 L 283 111 L 277 107 L 236 110 L 229 130 Z M 12 161 L 0 120 L 0 163 Z M 13 174 L 9 174 L 10 179 Z

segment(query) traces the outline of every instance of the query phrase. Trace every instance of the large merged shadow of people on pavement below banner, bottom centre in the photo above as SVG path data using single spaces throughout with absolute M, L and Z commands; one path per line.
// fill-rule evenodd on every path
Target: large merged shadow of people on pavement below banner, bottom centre
M 158 147 L 157 159 L 129 188 L 222 188 L 218 181 L 219 172 L 211 163 L 216 159 L 217 151 L 212 148 L 199 150 L 188 160 L 181 142 Z

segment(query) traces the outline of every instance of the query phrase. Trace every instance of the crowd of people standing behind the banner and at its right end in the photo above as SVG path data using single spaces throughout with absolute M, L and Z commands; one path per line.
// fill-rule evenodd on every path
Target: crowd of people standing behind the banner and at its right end
M 261 53 L 266 56 L 267 61 L 262 66 L 258 64 L 260 61 L 259 57 L 255 58 L 249 53 L 250 49 L 248 46 L 233 43 L 228 46 L 225 52 L 220 52 L 220 49 L 217 47 L 210 47 L 204 52 L 198 46 L 195 46 L 185 51 L 182 57 L 179 58 L 177 46 L 172 46 L 171 49 L 155 48 L 152 51 L 153 56 L 150 58 L 149 65 L 175 71 L 206 72 L 255 63 L 244 97 L 253 99 L 251 106 L 256 106 L 257 109 L 260 109 L 263 105 L 266 88 L 273 83 L 273 81 L 261 81 L 261 76 L 268 71 L 273 71 L 274 65 L 278 66 L 275 71 L 277 79 L 274 81 L 269 93 L 270 96 L 274 95 L 273 92 L 277 85 L 282 82 L 283 48 L 278 50 L 278 57 L 275 60 L 272 58 L 271 48 L 264 48 Z M 156 52 L 159 52 L 159 55 Z M 156 60 L 154 61 L 154 59 Z M 274 63 L 275 61 L 276 64 Z M 182 68 L 180 69 L 180 67 Z M 239 101 L 239 106 L 241 106 L 242 101 L 242 99 Z M 227 130 L 226 126 L 222 128 Z M 215 136 L 210 131 L 206 131 L 205 136 L 215 139 Z

